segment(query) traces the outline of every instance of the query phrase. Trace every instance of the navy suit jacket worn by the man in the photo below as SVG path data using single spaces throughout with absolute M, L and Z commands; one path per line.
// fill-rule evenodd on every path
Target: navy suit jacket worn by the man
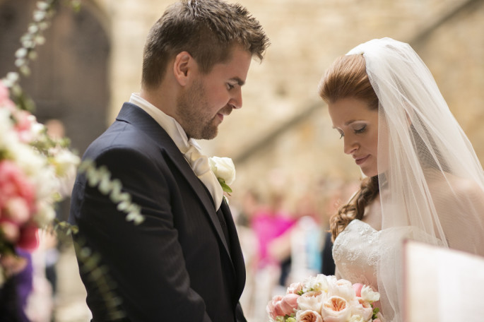
M 74 239 L 100 255 L 114 281 L 122 321 L 245 321 L 239 299 L 245 283 L 240 243 L 228 205 L 216 212 L 165 130 L 143 109 L 124 103 L 83 159 L 105 165 L 141 206 L 141 225 L 126 221 L 108 196 L 79 175 L 71 199 Z M 102 280 L 80 261 L 93 321 L 111 321 Z M 94 281 L 94 282 L 93 282 Z M 112 303 L 111 303 L 112 304 Z

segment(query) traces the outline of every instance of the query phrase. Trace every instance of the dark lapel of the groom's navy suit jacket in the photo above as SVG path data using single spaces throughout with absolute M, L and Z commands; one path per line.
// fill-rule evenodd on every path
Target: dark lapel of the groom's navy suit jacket
M 230 249 L 227 241 L 225 240 L 220 222 L 218 221 L 210 193 L 208 193 L 206 187 L 203 186 L 203 183 L 200 181 L 200 179 L 196 177 L 187 160 L 185 160 L 184 156 L 177 148 L 177 145 L 175 145 L 175 142 L 173 142 L 172 138 L 170 138 L 168 133 L 166 133 L 166 131 L 152 117 L 150 117 L 148 113 L 131 103 L 124 103 L 121 111 L 119 112 L 117 120 L 127 121 L 130 124 L 134 124 L 136 127 L 138 127 L 138 129 L 141 129 L 141 131 L 147 133 L 148 136 L 153 138 L 153 141 L 158 143 L 160 152 L 170 157 L 173 164 L 175 164 L 185 179 L 189 181 L 191 188 L 194 189 L 194 193 L 196 193 L 196 196 L 198 196 L 199 200 L 201 201 L 203 208 L 205 208 L 206 213 L 208 214 L 208 217 L 210 218 L 212 225 L 218 234 L 218 239 L 220 239 L 220 242 L 223 244 L 229 258 L 232 259 L 230 256 Z

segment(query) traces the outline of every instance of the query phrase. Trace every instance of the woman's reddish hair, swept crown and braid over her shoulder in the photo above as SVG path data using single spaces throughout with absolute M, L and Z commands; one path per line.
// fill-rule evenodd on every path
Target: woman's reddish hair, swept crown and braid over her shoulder
M 326 103 L 355 98 L 366 102 L 370 109 L 378 108 L 378 97 L 368 79 L 365 58 L 362 55 L 346 55 L 336 59 L 319 83 L 319 96 Z M 374 201 L 378 193 L 377 176 L 362 180 L 360 190 L 330 219 L 333 239 L 351 220 L 362 219 L 366 206 Z

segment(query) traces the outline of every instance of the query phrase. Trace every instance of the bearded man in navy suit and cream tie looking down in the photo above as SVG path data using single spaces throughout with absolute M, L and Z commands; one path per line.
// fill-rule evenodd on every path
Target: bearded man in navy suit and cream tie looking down
M 245 321 L 237 232 L 194 139 L 214 138 L 242 107 L 252 57 L 262 59 L 267 46 L 245 8 L 220 0 L 179 1 L 151 28 L 141 93 L 83 157 L 122 182 L 144 221 L 127 221 L 83 174 L 72 193 L 75 239 L 100 255 L 114 282 L 102 291 L 102 276 L 78 254 L 93 321 Z M 112 297 L 120 300 L 114 309 Z

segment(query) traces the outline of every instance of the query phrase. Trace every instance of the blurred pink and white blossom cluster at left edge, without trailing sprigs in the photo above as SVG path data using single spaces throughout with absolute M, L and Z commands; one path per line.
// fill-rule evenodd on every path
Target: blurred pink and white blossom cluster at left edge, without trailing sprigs
M 9 98 L 0 81 L 0 256 L 37 247 L 37 229 L 71 191 L 79 158 Z M 2 260 L 3 261 L 3 260 Z M 1 266 L 0 266 L 1 269 Z

